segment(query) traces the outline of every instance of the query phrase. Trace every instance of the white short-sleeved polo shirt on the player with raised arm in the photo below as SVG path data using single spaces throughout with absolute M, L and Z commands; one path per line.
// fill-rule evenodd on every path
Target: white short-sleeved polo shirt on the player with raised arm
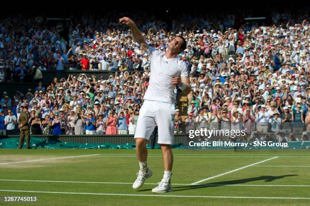
M 173 77 L 188 76 L 184 61 L 178 57 L 167 59 L 165 53 L 149 47 L 150 79 L 143 99 L 174 103 Z

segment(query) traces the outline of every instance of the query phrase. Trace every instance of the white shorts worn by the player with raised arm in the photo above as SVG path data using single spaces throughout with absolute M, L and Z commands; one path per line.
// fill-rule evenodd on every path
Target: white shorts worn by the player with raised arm
M 158 125 L 158 144 L 172 144 L 174 137 L 174 105 L 144 100 L 139 111 L 135 138 L 149 139 Z

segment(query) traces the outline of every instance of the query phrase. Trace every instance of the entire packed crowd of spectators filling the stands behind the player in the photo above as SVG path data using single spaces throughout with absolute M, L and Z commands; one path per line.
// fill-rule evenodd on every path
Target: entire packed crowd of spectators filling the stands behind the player
M 309 22 L 303 15 L 292 20 L 276 13 L 272 18 L 274 25 L 254 22 L 238 29 L 234 15 L 216 24 L 201 18 L 174 21 L 171 30 L 161 21 L 137 21 L 146 42 L 159 50 L 166 51 L 176 35 L 186 39 L 180 58 L 188 67 L 192 90 L 185 121 L 184 111 L 176 109 L 176 133 L 184 122 L 221 122 L 218 129 L 245 129 L 250 139 L 261 139 L 261 133 L 277 134 L 281 141 L 307 139 Z M 40 17 L 19 20 L 0 24 L 0 81 L 28 78 L 40 84 L 24 95 L 4 94 L 0 124 L 4 122 L 8 134 L 20 105 L 28 105 L 32 134 L 134 133 L 150 62 L 130 29 L 83 17 L 68 26 L 65 38 L 62 25 L 48 29 L 40 27 Z M 69 75 L 43 86 L 42 70 L 64 69 L 115 73 L 108 79 Z

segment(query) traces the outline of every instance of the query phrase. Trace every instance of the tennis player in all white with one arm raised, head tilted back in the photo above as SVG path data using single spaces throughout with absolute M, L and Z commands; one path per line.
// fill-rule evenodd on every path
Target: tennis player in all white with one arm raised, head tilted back
M 173 154 L 170 146 L 174 137 L 174 88 L 178 85 L 184 93 L 190 92 L 186 64 L 178 58 L 186 48 L 186 41 L 182 36 L 174 37 L 167 52 L 164 53 L 147 45 L 137 25 L 130 18 L 121 18 L 120 23 L 131 27 L 136 42 L 148 52 L 150 57 L 149 86 L 143 97 L 144 102 L 139 112 L 135 132 L 140 170 L 132 187 L 133 189 L 142 187 L 145 179 L 152 176 L 152 171 L 146 164 L 146 141 L 157 124 L 158 144 L 163 153 L 164 177 L 152 192 L 171 192 L 173 191 L 171 185 Z

